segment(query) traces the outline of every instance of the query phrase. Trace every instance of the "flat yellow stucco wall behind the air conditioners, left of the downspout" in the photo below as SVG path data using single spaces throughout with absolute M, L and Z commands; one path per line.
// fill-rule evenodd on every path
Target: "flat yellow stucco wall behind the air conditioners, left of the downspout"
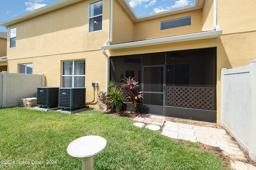
M 16 27 L 16 47 L 8 48 L 8 72 L 19 64 L 32 63 L 33 74 L 45 74 L 45 86 L 62 86 L 62 61 L 85 60 L 86 102 L 96 107 L 100 90 L 105 90 L 106 57 L 101 46 L 110 39 L 110 1 L 103 1 L 103 30 L 88 32 L 88 6 L 82 1 L 22 21 Z M 106 8 L 106 10 L 105 10 Z M 8 39 L 8 45 L 9 45 Z M 92 87 L 98 82 L 98 87 Z

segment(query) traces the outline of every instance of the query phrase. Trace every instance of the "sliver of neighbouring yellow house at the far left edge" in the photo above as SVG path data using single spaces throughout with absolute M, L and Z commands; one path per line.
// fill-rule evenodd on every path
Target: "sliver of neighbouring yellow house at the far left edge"
M 0 32 L 0 72 L 7 71 L 7 32 Z

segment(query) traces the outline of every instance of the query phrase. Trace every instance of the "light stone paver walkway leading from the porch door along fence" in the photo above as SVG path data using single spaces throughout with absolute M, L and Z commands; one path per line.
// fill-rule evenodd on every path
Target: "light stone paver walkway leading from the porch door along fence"
M 134 121 L 162 126 L 164 119 L 164 116 L 141 114 Z M 256 167 L 252 166 L 245 158 L 238 144 L 232 141 L 230 135 L 223 129 L 166 121 L 161 134 L 174 139 L 184 139 L 192 142 L 199 141 L 206 145 L 219 147 L 230 158 L 232 168 L 236 170 L 256 170 Z

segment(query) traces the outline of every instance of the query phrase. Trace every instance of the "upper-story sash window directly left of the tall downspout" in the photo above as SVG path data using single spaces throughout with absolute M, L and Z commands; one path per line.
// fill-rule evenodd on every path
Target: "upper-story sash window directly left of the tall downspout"
M 89 32 L 102 30 L 103 2 L 89 5 Z

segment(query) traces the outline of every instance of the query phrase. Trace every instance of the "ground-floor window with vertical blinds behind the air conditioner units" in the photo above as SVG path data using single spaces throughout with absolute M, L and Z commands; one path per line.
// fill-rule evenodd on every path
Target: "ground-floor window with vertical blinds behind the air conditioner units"
M 62 87 L 85 87 L 85 61 L 64 61 Z

